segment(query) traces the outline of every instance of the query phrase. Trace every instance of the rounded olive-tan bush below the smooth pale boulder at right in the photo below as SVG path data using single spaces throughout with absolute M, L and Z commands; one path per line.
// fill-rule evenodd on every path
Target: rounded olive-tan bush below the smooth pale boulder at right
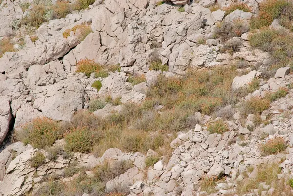
M 261 114 L 264 110 L 268 109 L 270 106 L 270 101 L 267 99 L 260 99 L 257 97 L 252 97 L 250 100 L 245 101 L 242 104 L 241 113 L 243 115 L 248 114 Z

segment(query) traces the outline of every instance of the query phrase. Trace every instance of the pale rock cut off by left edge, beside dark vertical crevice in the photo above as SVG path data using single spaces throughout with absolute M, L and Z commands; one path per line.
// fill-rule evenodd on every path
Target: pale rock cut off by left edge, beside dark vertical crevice
M 10 99 L 4 96 L 0 96 L 0 145 L 9 131 L 11 118 L 12 114 L 10 111 Z

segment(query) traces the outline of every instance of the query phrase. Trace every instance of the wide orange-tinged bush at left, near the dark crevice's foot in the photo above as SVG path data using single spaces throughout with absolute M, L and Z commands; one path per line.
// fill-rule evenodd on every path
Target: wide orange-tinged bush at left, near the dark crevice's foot
M 58 123 L 48 118 L 36 118 L 22 126 L 16 132 L 16 139 L 24 144 L 31 144 L 34 148 L 51 146 L 57 139 L 61 139 L 64 130 Z

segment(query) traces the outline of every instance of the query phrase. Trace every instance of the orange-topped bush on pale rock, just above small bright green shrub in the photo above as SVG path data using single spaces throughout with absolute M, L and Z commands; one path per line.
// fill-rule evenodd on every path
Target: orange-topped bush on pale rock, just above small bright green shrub
M 89 77 L 92 73 L 99 72 L 102 69 L 102 66 L 98 63 L 95 63 L 91 59 L 82 59 L 76 64 L 76 71 L 80 73 L 85 73 Z

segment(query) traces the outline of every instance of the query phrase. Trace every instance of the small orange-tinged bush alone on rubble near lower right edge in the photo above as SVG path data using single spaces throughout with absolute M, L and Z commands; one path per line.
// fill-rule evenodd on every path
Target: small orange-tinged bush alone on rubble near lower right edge
M 260 145 L 260 151 L 263 156 L 277 154 L 286 150 L 286 143 L 282 137 L 276 137 L 268 140 L 265 144 Z

